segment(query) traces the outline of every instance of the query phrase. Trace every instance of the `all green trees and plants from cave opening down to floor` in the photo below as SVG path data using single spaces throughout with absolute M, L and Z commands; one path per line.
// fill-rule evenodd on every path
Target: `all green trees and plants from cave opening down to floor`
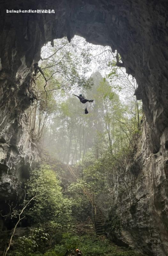
M 16 236 L 11 231 L 1 250 L 20 256 L 75 255 L 76 248 L 84 256 L 139 255 L 106 237 L 119 229 L 117 216 L 109 217 L 105 235 L 96 235 L 93 207 L 84 193 L 93 201 L 101 198 L 104 208 L 111 204 L 114 174 L 136 151 L 141 133 L 142 105 L 134 97 L 137 83 L 125 73 L 117 52 L 77 36 L 71 43 L 57 39 L 54 47 L 49 42 L 41 56 L 42 72 L 32 74 L 36 99 L 27 120 L 42 163 L 21 185 L 19 203 L 8 202 L 4 218 L 25 232 Z M 82 104 L 73 93 L 94 101 Z M 120 193 L 128 191 L 123 181 Z

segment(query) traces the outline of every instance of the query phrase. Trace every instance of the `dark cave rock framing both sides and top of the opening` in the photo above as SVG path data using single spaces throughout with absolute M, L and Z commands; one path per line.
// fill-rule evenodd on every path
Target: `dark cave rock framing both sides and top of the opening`
M 1 200 L 13 197 L 38 158 L 26 116 L 32 64 L 40 60 L 47 41 L 80 35 L 118 50 L 127 73 L 138 82 L 135 95 L 142 99 L 147 120 L 135 164 L 131 169 L 128 164 L 124 174 L 131 181 L 141 177 L 133 190 L 137 202 L 130 211 L 129 198 L 123 199 L 128 209 L 124 202 L 117 211 L 126 212 L 126 228 L 116 234 L 150 255 L 168 255 L 167 0 L 25 0 L 24 4 L 16 0 L 10 6 L 6 2 L 1 1 L 0 10 Z M 54 9 L 55 13 L 6 13 L 6 9 Z M 143 212 L 146 215 L 140 215 Z

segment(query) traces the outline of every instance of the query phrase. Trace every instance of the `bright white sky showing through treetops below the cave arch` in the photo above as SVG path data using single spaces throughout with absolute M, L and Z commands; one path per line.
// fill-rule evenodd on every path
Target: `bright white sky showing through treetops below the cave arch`
M 55 39 L 54 44 L 59 44 L 61 40 L 62 39 Z M 116 53 L 112 53 L 111 47 L 90 44 L 86 42 L 84 38 L 79 36 L 74 36 L 71 44 L 69 44 L 67 38 L 65 38 L 65 43 L 67 50 L 75 51 L 77 54 L 79 54 L 79 56 L 81 55 L 83 49 L 85 50 L 85 52 L 88 53 L 88 58 L 90 58 L 91 61 L 89 62 L 89 64 L 82 63 L 82 68 L 86 70 L 88 69 L 85 73 L 86 77 L 90 77 L 92 73 L 98 71 L 110 83 L 112 89 L 119 95 L 121 101 L 127 101 L 128 98 L 133 97 L 134 88 L 132 86 L 132 76 L 130 75 L 128 77 L 125 72 L 125 68 L 117 69 L 118 77 L 115 77 L 113 79 L 108 79 L 107 77 L 108 74 L 111 72 L 111 66 L 108 65 L 109 62 L 116 60 Z M 51 54 L 52 47 L 50 46 L 50 42 L 47 44 L 47 47 L 49 47 L 49 50 L 48 48 L 46 48 L 46 46 L 42 48 L 42 58 L 46 58 Z M 120 90 L 118 90 L 118 87 L 120 88 Z M 81 93 L 81 89 L 77 86 L 73 86 L 72 90 L 70 90 L 70 94 L 72 93 L 79 95 Z

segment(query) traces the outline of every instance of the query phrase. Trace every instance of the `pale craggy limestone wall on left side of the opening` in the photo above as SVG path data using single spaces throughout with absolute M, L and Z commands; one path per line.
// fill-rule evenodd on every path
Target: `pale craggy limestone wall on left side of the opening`
M 0 96 L 0 198 L 4 201 L 16 197 L 39 155 L 25 112 L 30 99 L 22 90 L 27 90 L 29 80 L 21 85 L 6 79 L 1 82 L 4 84 Z

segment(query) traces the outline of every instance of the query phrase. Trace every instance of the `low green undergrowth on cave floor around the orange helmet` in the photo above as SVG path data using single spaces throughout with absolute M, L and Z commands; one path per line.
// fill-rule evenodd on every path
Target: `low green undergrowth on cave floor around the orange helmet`
M 23 241 L 23 240 L 22 240 Z M 27 241 L 26 241 L 27 242 Z M 14 254 L 18 256 L 73 256 L 76 255 L 75 249 L 79 248 L 83 256 L 140 256 L 137 252 L 123 247 L 118 247 L 112 243 L 105 236 L 97 237 L 95 232 L 88 230 L 88 233 L 83 235 L 77 235 L 76 231 L 74 233 L 67 232 L 61 234 L 61 241 L 59 244 L 54 245 L 50 250 L 45 253 L 32 253 L 30 251 L 30 245 L 25 243 L 27 248 L 24 248 L 24 243 Z M 23 252 L 24 251 L 24 252 Z M 26 253 L 26 254 L 25 254 Z

